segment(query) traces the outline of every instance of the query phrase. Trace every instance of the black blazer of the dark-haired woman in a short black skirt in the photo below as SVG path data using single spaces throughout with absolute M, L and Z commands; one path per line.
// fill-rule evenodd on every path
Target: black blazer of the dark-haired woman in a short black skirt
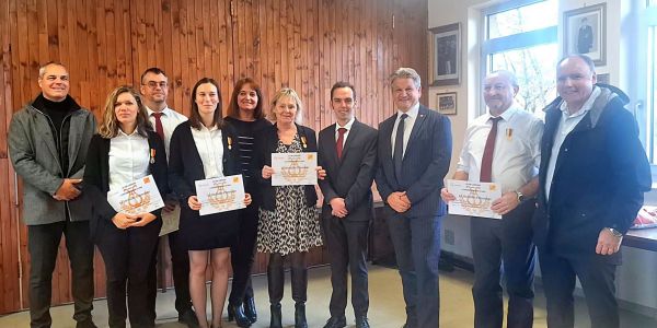
M 240 174 L 234 157 L 238 152 L 238 140 L 232 128 L 224 125 L 221 128 L 223 140 L 223 175 Z M 169 181 L 175 197 L 181 206 L 188 208 L 187 199 L 196 195 L 196 180 L 205 179 L 203 162 L 198 154 L 194 137 L 192 136 L 189 121 L 180 124 L 169 144 Z

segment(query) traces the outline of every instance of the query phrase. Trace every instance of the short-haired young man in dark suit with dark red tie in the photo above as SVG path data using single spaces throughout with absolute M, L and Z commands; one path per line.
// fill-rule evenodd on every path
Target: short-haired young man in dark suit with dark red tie
M 337 122 L 320 131 L 319 165 L 324 195 L 322 223 L 331 262 L 331 318 L 324 328 L 347 321 L 347 267 L 351 272 L 351 304 L 357 328 L 368 328 L 367 237 L 372 219 L 371 186 L 377 162 L 377 130 L 354 117 L 356 92 L 346 82 L 331 89 L 331 108 Z

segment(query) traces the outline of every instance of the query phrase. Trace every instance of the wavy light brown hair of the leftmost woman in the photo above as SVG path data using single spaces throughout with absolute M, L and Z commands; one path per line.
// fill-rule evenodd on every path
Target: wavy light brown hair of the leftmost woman
M 116 104 L 118 96 L 124 93 L 129 93 L 132 95 L 132 97 L 135 97 L 135 102 L 137 102 L 137 133 L 142 137 L 148 137 L 147 131 L 153 130 L 153 127 L 148 120 L 148 110 L 141 102 L 141 96 L 139 93 L 137 93 L 137 91 L 129 85 L 118 86 L 107 95 L 105 107 L 103 109 L 103 120 L 99 126 L 99 133 L 105 139 L 112 139 L 118 134 L 118 120 L 116 119 L 114 104 Z

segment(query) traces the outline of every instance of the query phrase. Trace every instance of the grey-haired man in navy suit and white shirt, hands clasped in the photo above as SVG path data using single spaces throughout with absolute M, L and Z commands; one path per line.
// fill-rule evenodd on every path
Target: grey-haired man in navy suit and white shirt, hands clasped
M 377 187 L 402 277 L 406 328 L 438 327 L 440 199 L 451 157 L 447 117 L 419 104 L 420 79 L 411 68 L 391 77 L 396 113 L 379 126 Z

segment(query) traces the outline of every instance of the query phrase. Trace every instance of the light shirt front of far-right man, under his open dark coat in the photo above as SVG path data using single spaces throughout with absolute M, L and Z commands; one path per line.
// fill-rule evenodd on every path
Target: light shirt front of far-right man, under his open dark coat
M 552 145 L 552 153 L 550 154 L 550 163 L 548 163 L 548 173 L 545 174 L 545 199 L 550 199 L 550 187 L 552 185 L 552 178 L 554 177 L 554 168 L 556 166 L 556 159 L 561 151 L 562 144 L 566 140 L 566 137 L 575 129 L 575 127 L 581 121 L 584 116 L 591 110 L 596 98 L 600 95 L 600 87 L 593 86 L 593 91 L 589 98 L 581 105 L 579 110 L 568 113 L 568 105 L 566 102 L 562 102 L 560 109 L 562 110 L 562 117 L 558 122 L 558 127 L 554 132 L 554 144 Z

